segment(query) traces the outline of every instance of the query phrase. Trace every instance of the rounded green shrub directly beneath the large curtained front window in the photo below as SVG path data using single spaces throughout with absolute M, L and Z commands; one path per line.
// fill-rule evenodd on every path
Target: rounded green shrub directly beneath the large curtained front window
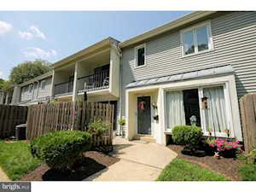
M 178 145 L 188 145 L 190 148 L 200 143 L 202 131 L 200 127 L 179 125 L 172 129 L 172 140 Z

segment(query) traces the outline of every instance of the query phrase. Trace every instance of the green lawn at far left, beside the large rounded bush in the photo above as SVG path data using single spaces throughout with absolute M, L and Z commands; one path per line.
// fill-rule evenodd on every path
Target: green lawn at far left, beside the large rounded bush
M 0 141 L 0 166 L 11 180 L 18 180 L 41 164 L 33 158 L 28 143 L 4 143 Z

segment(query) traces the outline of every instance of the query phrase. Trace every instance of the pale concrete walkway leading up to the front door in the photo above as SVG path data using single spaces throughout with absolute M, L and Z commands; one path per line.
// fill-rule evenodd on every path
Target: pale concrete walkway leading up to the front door
M 85 181 L 154 181 L 177 154 L 156 143 L 128 142 L 116 137 L 112 155 L 119 162 Z

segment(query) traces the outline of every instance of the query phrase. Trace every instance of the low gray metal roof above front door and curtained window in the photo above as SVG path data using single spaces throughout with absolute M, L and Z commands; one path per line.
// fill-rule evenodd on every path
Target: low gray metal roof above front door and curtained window
M 153 79 L 143 79 L 143 80 L 139 80 L 139 81 L 135 81 L 130 84 L 127 84 L 125 87 L 133 88 L 133 87 L 146 86 L 146 85 L 152 85 L 152 84 L 164 84 L 164 83 L 171 83 L 171 82 L 189 80 L 189 79 L 200 79 L 204 77 L 222 75 L 227 73 L 234 73 L 234 69 L 230 65 L 226 65 L 222 67 L 207 68 L 207 69 L 202 69 L 202 70 L 189 72 L 189 73 L 179 73 L 179 74 L 153 78 Z

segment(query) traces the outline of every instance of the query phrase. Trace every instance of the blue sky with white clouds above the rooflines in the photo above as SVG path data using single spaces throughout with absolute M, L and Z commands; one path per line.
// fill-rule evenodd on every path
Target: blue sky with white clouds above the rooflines
M 112 37 L 124 41 L 189 11 L 0 11 L 0 78 L 23 61 L 59 61 Z

